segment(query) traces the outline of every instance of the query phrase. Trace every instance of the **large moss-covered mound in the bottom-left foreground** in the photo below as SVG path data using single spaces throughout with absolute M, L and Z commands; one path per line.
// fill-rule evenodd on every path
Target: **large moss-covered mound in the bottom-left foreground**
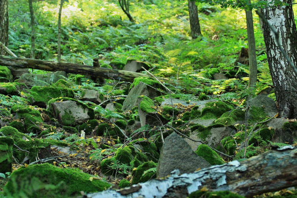
M 110 187 L 109 183 L 98 179 L 91 181 L 90 177 L 48 163 L 34 164 L 12 172 L 4 194 L 9 197 L 76 197 L 80 191 L 103 191 Z

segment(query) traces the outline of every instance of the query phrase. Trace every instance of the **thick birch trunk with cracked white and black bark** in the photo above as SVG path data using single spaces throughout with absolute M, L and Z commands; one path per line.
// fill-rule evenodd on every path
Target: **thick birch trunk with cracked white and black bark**
M 291 0 L 286 3 L 290 4 Z M 265 8 L 261 13 L 279 33 L 279 41 L 293 64 L 297 65 L 297 31 L 292 5 Z M 262 22 L 266 54 L 279 116 L 297 118 L 297 77 L 277 46 L 277 39 L 268 25 Z

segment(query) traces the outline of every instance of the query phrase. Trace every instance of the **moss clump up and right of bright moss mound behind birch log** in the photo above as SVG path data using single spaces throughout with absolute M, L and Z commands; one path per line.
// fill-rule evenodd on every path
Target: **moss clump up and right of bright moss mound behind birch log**
M 240 144 L 241 142 L 244 141 L 244 132 L 238 132 L 236 134 L 234 134 L 234 136 L 227 136 L 224 137 L 221 140 L 221 144 L 223 146 L 223 148 L 226 150 L 226 154 L 228 155 L 234 155 L 235 151 L 236 151 L 236 143 Z

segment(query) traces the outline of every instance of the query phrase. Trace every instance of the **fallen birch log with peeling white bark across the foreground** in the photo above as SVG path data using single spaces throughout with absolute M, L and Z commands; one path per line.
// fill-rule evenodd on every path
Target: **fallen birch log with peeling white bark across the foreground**
M 243 161 L 212 166 L 194 173 L 149 180 L 130 188 L 108 189 L 87 194 L 101 197 L 187 197 L 203 187 L 208 191 L 229 190 L 245 197 L 297 185 L 297 147 L 285 146 Z

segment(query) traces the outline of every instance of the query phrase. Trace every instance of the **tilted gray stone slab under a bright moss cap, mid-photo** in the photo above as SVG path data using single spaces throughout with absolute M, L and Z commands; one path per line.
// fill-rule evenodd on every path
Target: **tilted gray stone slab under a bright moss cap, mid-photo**
M 139 83 L 129 91 L 127 98 L 124 100 L 122 110 L 129 111 L 132 110 L 133 107 L 138 106 L 138 96 L 141 95 L 154 99 L 155 97 L 160 96 L 160 92 L 144 83 Z

